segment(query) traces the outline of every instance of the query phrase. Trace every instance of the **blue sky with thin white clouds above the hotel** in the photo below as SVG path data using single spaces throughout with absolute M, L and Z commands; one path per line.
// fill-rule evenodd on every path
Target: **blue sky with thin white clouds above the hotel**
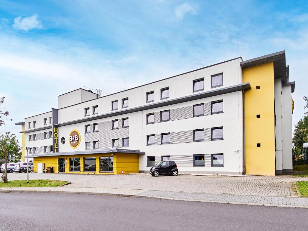
M 307 94 L 307 1 L 3 1 L 0 96 L 14 123 L 57 108 L 79 87 L 104 95 L 242 56 L 286 50 L 296 81 L 293 124 Z

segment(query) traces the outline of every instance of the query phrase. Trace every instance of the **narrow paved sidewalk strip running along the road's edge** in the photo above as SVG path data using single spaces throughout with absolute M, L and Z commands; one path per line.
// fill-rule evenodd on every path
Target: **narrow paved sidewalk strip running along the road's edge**
M 0 193 L 45 192 L 45 193 L 84 193 L 95 195 L 150 197 L 167 200 L 217 202 L 241 205 L 265 205 L 278 207 L 308 208 L 308 197 L 236 195 L 221 193 L 188 193 L 159 190 L 138 190 L 119 188 L 76 188 L 76 187 L 20 187 L 0 188 Z M 0 196 L 1 197 L 1 196 Z

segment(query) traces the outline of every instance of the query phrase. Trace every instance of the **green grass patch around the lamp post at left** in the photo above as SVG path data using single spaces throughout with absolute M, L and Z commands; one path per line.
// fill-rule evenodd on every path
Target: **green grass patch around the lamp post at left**
M 0 182 L 0 187 L 57 187 L 67 183 L 64 180 L 9 180 L 7 183 Z

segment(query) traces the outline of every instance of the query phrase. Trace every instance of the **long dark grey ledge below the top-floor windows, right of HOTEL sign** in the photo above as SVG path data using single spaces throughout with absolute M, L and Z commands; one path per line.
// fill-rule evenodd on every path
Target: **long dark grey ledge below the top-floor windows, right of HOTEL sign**
M 91 120 L 98 120 L 98 119 L 103 119 L 103 118 L 107 118 L 107 117 L 111 117 L 111 116 L 123 115 L 123 114 L 128 114 L 128 113 L 132 113 L 132 112 L 136 112 L 136 111 L 144 111 L 144 110 L 153 109 L 153 108 L 157 108 L 157 107 L 164 107 L 164 106 L 168 106 L 168 105 L 172 105 L 172 104 L 188 102 L 188 101 L 192 101 L 192 100 L 196 100 L 196 99 L 203 99 L 203 98 L 207 98 L 207 97 L 211 97 L 211 96 L 215 96 L 215 95 L 223 95 L 223 94 L 227 94 L 227 93 L 231 93 L 231 92 L 235 92 L 235 91 L 245 91 L 245 90 L 248 90 L 250 88 L 251 88 L 251 86 L 250 86 L 249 83 L 241 83 L 241 84 L 234 85 L 234 86 L 231 86 L 231 87 L 219 88 L 219 89 L 212 90 L 212 91 L 201 92 L 201 93 L 197 93 L 197 94 L 194 94 L 194 95 L 188 95 L 188 96 L 184 96 L 184 97 L 180 97 L 180 98 L 176 98 L 176 99 L 169 99 L 169 100 L 165 100 L 163 102 L 147 104 L 147 105 L 143 105 L 143 106 L 139 106 L 139 107 L 133 107 L 133 108 L 126 109 L 126 110 L 110 112 L 110 113 L 106 113 L 106 114 L 102 114 L 102 115 L 91 116 L 91 117 L 82 118 L 82 119 L 79 119 L 79 120 L 71 120 L 71 121 L 59 123 L 59 124 L 56 124 L 56 125 L 61 127 L 61 126 L 65 126 L 65 125 L 77 124 L 77 123 L 87 122 L 87 121 L 91 121 Z

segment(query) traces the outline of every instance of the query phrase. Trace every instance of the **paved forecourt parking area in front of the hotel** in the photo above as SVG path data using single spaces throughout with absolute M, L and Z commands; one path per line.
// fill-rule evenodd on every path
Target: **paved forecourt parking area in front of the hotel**
M 24 180 L 26 174 L 8 174 L 9 180 Z M 29 179 L 68 180 L 71 184 L 63 187 L 119 188 L 157 190 L 186 193 L 227 193 L 238 195 L 296 196 L 293 182 L 308 180 L 308 177 L 291 176 L 159 176 L 149 174 L 128 175 L 84 175 L 30 173 Z

